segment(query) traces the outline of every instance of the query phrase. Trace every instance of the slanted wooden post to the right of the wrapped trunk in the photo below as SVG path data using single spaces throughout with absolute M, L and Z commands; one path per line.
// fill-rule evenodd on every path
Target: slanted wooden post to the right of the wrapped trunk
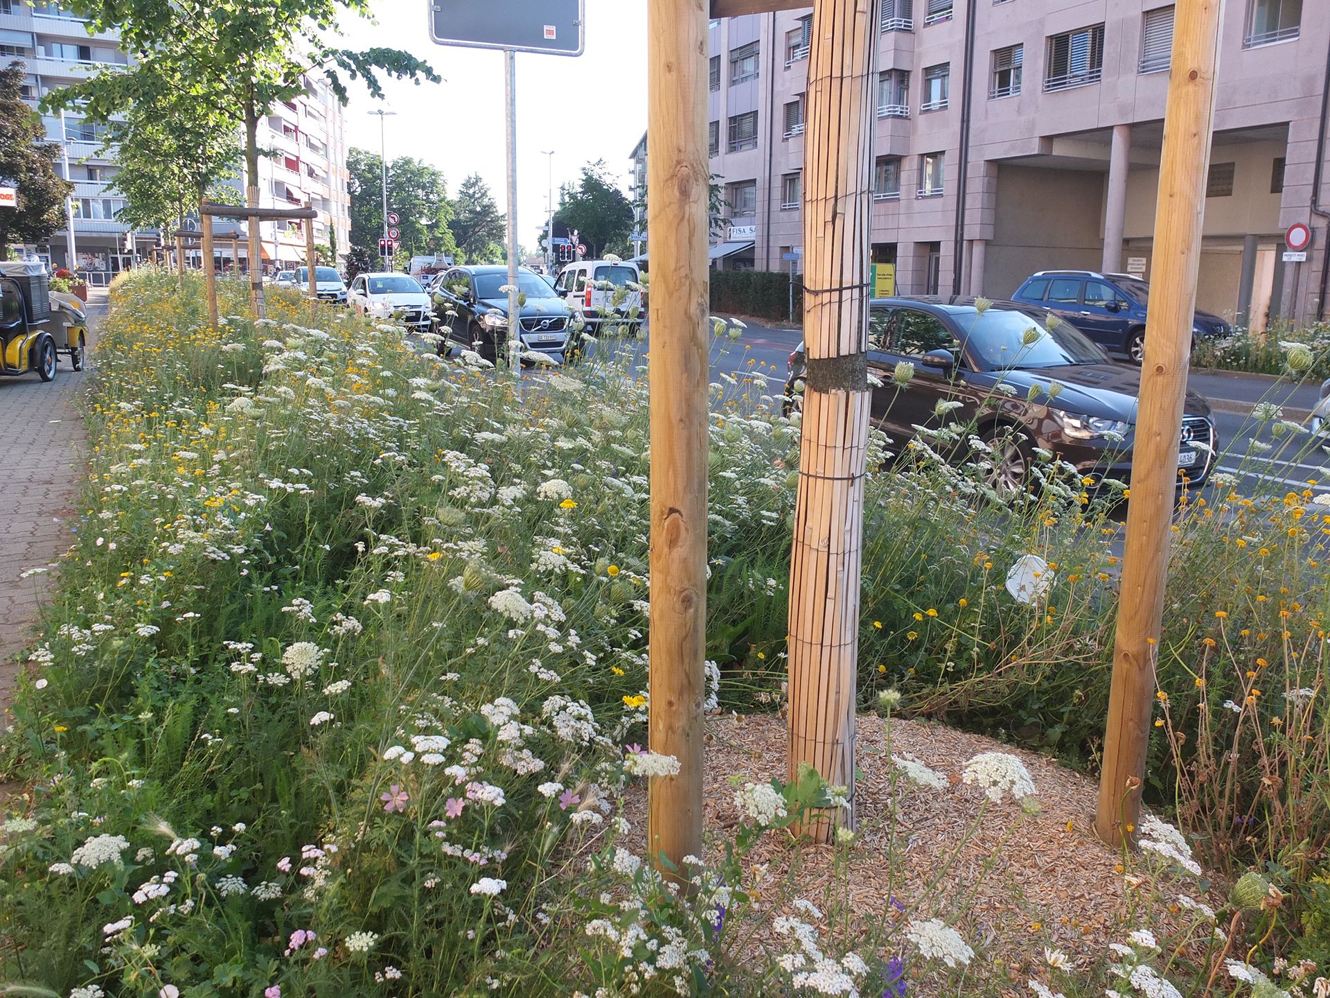
M 1173 71 L 1164 113 L 1154 263 L 1132 448 L 1132 498 L 1127 510 L 1113 681 L 1095 817 L 1095 830 L 1112 844 L 1120 844 L 1124 832 L 1130 840 L 1127 826 L 1140 824 L 1222 12 L 1224 0 L 1178 0 L 1173 16 Z

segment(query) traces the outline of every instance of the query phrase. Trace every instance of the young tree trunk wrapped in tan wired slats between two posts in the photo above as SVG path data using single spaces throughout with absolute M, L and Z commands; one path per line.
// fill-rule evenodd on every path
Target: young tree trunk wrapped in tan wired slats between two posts
M 878 45 L 875 4 L 818 0 L 803 136 L 807 375 L 790 559 L 787 776 L 807 762 L 850 806 L 805 832 L 854 825 L 854 697 L 871 395 L 868 220 Z M 654 278 L 653 278 L 654 279 Z

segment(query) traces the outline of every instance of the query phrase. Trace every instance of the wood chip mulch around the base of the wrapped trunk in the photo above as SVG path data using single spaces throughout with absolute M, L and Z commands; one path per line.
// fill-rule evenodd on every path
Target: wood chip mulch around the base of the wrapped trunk
M 1096 838 L 1092 828 L 1096 784 L 1032 752 L 922 720 L 891 721 L 890 753 L 912 756 L 944 773 L 951 785 L 922 789 L 898 780 L 898 862 L 887 862 L 892 833 L 888 797 L 894 765 L 886 752 L 883 723 L 858 719 L 858 834 L 843 872 L 831 846 L 793 844 L 767 833 L 750 856 L 759 880 L 759 905 L 769 917 L 787 910 L 795 897 L 819 906 L 847 904 L 864 922 L 899 918 L 891 897 L 910 908 L 972 826 L 983 794 L 960 782 L 968 758 L 988 750 L 1009 752 L 1027 766 L 1037 789 L 1039 810 L 1023 814 L 1005 800 L 987 804 L 983 821 L 955 865 L 920 905 L 919 915 L 939 914 L 1004 975 L 1043 962 L 1043 947 L 1063 950 L 1073 963 L 1097 962 L 1119 937 L 1127 892 L 1121 857 Z M 709 848 L 724 841 L 739 818 L 729 777 L 765 782 L 785 778 L 786 727 L 779 715 L 718 716 L 708 720 L 705 828 Z M 630 845 L 645 848 L 646 793 L 634 785 L 624 801 L 632 822 Z M 755 870 L 753 868 L 757 868 Z M 762 869 L 765 866 L 765 870 Z M 1117 869 L 1115 869 L 1117 868 Z M 839 886 L 835 886 L 839 885 Z M 747 886 L 747 884 L 746 884 Z M 837 890 L 837 894 L 831 894 Z M 757 934 L 758 945 L 770 942 Z

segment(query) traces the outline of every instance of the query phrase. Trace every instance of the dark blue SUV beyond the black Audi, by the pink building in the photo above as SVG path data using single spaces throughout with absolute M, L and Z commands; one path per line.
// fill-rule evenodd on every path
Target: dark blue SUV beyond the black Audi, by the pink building
M 1040 270 L 1016 289 L 1013 301 L 1033 305 L 1073 323 L 1100 346 L 1145 358 L 1145 306 L 1150 286 L 1132 274 L 1093 270 Z M 1226 337 L 1233 326 L 1218 315 L 1196 310 L 1192 338 Z

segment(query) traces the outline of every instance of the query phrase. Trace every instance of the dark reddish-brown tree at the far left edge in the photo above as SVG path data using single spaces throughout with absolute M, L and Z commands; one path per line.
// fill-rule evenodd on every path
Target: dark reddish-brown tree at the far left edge
M 0 259 L 9 242 L 39 242 L 65 225 L 70 185 L 56 174 L 60 145 L 23 102 L 23 63 L 0 68 L 0 184 L 19 189 L 19 206 L 0 209 Z

